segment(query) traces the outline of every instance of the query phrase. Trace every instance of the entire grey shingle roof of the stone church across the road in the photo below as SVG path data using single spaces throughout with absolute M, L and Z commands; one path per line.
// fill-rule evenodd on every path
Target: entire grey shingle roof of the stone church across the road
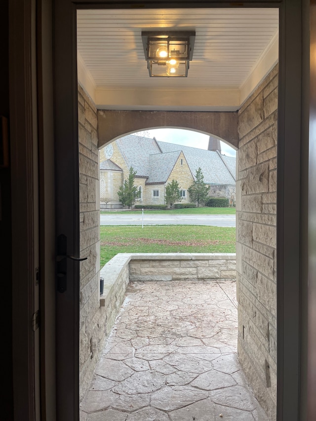
M 147 183 L 166 182 L 170 172 L 183 152 L 195 176 L 200 167 L 206 184 L 235 184 L 236 158 L 216 151 L 160 142 L 156 139 L 127 135 L 116 140 L 126 165 L 136 170 L 137 176 L 148 177 Z

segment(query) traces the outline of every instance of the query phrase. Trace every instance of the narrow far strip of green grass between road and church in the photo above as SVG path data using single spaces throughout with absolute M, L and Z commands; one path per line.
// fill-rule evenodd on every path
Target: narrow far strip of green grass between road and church
M 104 211 L 103 214 L 117 214 L 121 212 L 129 212 L 133 215 L 138 215 L 142 213 L 141 209 L 118 209 L 116 211 Z M 144 209 L 144 214 L 166 214 L 166 215 L 235 215 L 236 208 L 210 208 L 210 207 L 200 207 L 200 208 L 186 208 L 186 209 L 166 209 L 166 210 L 156 210 L 156 209 Z

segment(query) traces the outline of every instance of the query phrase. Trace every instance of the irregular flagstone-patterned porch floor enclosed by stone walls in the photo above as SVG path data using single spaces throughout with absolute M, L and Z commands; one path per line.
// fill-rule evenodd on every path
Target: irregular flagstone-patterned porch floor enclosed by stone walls
M 235 281 L 134 282 L 80 421 L 267 421 L 237 361 Z

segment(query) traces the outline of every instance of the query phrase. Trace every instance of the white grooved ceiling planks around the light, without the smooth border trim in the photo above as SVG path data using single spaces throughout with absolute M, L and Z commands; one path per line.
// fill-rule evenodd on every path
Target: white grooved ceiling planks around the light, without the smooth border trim
M 110 93 L 224 90 L 236 95 L 278 36 L 278 11 L 273 8 L 79 10 L 77 22 L 85 79 L 96 91 Z M 149 77 L 141 32 L 159 28 L 196 31 L 187 78 Z

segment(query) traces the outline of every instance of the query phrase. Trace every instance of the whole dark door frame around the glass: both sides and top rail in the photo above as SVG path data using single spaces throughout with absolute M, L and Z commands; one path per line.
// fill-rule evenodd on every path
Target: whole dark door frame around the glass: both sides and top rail
M 242 7 L 182 2 L 185 7 Z M 249 7 L 250 3 L 245 3 Z M 300 138 L 302 2 L 252 3 L 281 7 L 278 146 L 278 421 L 296 421 L 300 389 Z M 54 79 L 56 147 L 57 419 L 79 420 L 79 145 L 76 8 L 179 7 L 177 2 L 56 0 Z M 285 142 L 286 140 L 286 142 Z M 293 195 L 297 198 L 293 205 Z M 288 209 L 291 207 L 291 215 Z M 60 237 L 62 235 L 62 237 Z M 59 238 L 59 242 L 57 241 Z M 58 247 L 57 247 L 58 246 Z M 62 264 L 60 264 L 62 262 Z M 284 281 L 283 281 L 284 280 Z

